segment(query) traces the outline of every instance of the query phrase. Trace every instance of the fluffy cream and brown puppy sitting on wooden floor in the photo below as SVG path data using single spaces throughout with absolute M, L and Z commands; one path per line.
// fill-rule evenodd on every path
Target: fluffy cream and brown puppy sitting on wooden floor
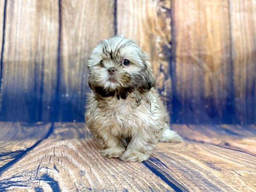
M 155 79 L 137 42 L 116 36 L 102 40 L 88 61 L 86 123 L 105 157 L 148 160 L 157 142 L 180 142 L 169 129 Z

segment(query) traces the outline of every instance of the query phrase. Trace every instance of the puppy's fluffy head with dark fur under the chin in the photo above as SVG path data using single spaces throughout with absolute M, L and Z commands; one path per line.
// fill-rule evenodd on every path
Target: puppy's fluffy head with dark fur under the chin
M 147 59 L 136 41 L 121 36 L 102 40 L 88 61 L 89 86 L 94 93 L 118 99 L 133 91 L 146 92 L 155 85 Z

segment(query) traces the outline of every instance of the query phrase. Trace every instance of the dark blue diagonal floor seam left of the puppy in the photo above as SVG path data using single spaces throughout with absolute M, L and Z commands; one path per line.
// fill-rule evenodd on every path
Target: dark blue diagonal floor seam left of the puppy
M 35 148 L 37 145 L 39 145 L 43 140 L 46 140 L 52 134 L 53 129 L 54 129 L 54 122 L 52 122 L 52 124 L 49 128 L 49 131 L 47 132 L 47 134 L 45 135 L 44 138 L 42 138 L 41 140 L 38 140 L 34 145 L 23 150 L 19 155 L 17 155 L 17 157 L 15 157 L 15 159 L 6 163 L 4 166 L 0 167 L 0 177 L 7 169 L 9 169 L 11 166 L 13 166 L 15 163 L 17 163 L 20 159 L 22 159 L 29 151 L 31 151 L 33 148 Z

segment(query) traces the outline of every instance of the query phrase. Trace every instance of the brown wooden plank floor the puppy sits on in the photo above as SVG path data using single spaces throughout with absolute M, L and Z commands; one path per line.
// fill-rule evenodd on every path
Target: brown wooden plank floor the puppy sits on
M 172 125 L 185 142 L 106 159 L 84 123 L 0 122 L 0 191 L 256 191 L 256 125 Z

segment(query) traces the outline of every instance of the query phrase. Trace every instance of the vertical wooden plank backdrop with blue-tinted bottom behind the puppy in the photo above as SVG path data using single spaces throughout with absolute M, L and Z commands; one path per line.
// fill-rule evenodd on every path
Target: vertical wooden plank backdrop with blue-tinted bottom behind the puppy
M 0 120 L 84 121 L 87 60 L 124 35 L 176 123 L 256 123 L 256 0 L 0 0 Z

